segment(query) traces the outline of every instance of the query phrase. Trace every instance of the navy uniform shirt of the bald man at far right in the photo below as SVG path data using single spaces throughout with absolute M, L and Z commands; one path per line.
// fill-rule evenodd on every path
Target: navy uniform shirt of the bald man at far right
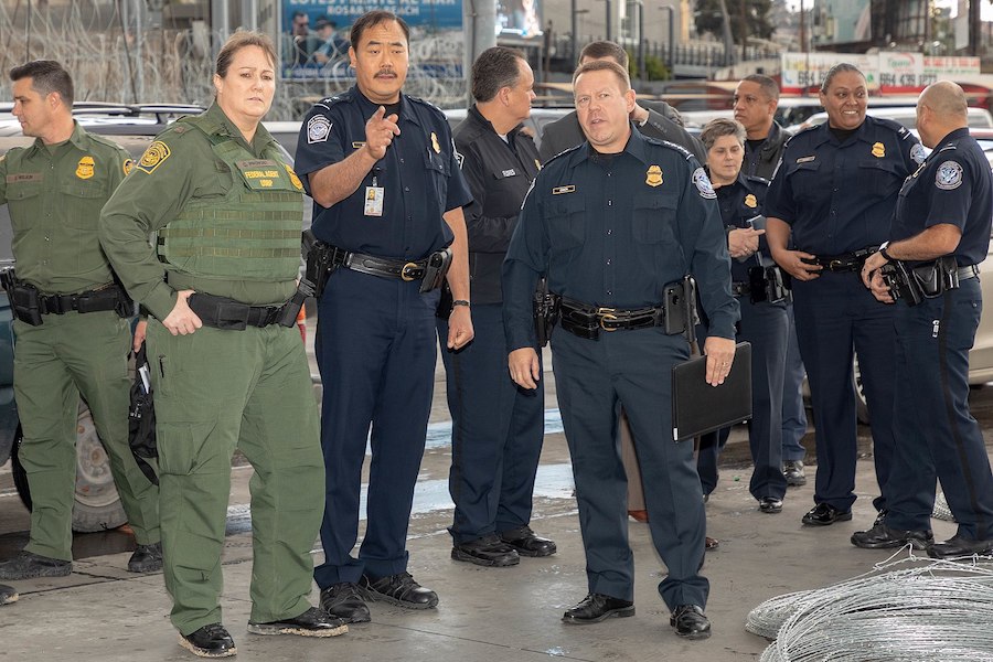
M 907 179 L 897 201 L 893 241 L 906 239 L 939 223 L 962 231 L 954 256 L 959 265 L 986 259 L 993 224 L 993 174 L 969 129 L 955 129 Z

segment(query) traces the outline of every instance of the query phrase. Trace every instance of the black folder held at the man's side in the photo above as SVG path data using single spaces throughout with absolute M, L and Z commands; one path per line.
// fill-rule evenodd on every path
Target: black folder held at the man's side
M 751 418 L 751 343 L 739 342 L 730 373 L 719 386 L 706 381 L 707 357 L 672 369 L 672 438 L 705 435 Z

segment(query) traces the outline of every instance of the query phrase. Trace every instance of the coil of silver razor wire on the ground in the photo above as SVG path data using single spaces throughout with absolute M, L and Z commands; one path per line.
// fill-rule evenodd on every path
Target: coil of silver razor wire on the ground
M 761 662 L 993 662 L 993 558 L 893 569 L 921 560 L 764 602 L 746 622 L 776 636 Z

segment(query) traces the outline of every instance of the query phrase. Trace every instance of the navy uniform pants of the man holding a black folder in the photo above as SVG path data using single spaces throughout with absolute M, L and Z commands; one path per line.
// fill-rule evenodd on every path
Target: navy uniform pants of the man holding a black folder
M 688 357 L 682 335 L 659 329 L 552 339 L 562 421 L 573 461 L 590 592 L 630 600 L 634 559 L 628 545 L 628 484 L 617 425 L 623 406 L 638 450 L 652 542 L 669 569 L 659 594 L 672 609 L 706 605 L 703 493 L 692 441 L 672 430 L 672 366 Z

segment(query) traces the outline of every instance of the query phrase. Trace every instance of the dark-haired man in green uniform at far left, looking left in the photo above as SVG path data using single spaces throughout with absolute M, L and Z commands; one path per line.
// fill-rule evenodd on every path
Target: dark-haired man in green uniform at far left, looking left
M 100 207 L 131 167 L 126 151 L 73 120 L 73 81 L 57 62 L 14 67 L 13 115 L 34 142 L 0 156 L 15 275 L 4 274 L 17 334 L 14 397 L 31 537 L 0 579 L 62 577 L 73 568 L 79 395 L 89 405 L 138 548 L 128 570 L 162 567 L 158 488 L 128 448 L 127 357 L 134 303 L 100 250 Z

